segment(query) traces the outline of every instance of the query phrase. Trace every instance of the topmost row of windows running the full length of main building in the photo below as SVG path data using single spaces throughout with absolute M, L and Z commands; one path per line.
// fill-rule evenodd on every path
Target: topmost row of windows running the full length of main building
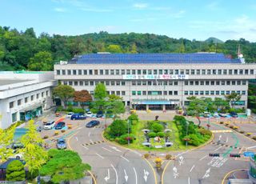
M 254 70 L 56 70 L 57 75 L 123 75 L 123 74 L 197 74 L 197 75 L 210 75 L 210 74 L 255 74 Z

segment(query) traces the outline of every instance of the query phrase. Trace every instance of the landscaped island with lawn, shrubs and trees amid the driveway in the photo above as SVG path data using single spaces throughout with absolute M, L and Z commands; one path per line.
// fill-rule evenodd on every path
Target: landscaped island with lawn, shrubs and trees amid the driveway
M 198 127 L 183 116 L 173 121 L 142 121 L 137 114 L 127 120 L 116 119 L 104 132 L 111 142 L 138 150 L 186 150 L 211 138 L 210 130 Z

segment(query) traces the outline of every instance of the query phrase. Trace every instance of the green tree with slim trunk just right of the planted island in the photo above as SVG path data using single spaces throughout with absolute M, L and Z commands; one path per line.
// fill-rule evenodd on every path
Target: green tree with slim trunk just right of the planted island
M 196 98 L 194 96 L 188 97 L 190 100 L 190 105 L 188 106 L 188 110 L 194 111 L 194 116 L 198 118 L 198 127 L 201 126 L 201 120 L 199 118 L 200 114 L 206 111 L 207 103 L 203 98 Z

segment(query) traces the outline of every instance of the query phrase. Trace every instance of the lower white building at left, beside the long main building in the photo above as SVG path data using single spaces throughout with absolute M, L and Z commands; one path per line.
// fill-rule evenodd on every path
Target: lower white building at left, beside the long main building
M 53 106 L 54 72 L 0 72 L 0 128 L 42 115 Z

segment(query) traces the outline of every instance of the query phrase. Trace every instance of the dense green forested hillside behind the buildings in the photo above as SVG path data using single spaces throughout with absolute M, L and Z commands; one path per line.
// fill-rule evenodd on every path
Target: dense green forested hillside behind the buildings
M 78 36 L 40 34 L 33 28 L 18 31 L 0 26 L 0 70 L 53 70 L 54 62 L 69 60 L 76 54 L 97 53 L 194 53 L 222 52 L 234 58 L 240 44 L 246 62 L 256 62 L 256 43 L 228 40 L 214 43 L 169 38 L 156 34 L 108 34 L 100 32 Z

